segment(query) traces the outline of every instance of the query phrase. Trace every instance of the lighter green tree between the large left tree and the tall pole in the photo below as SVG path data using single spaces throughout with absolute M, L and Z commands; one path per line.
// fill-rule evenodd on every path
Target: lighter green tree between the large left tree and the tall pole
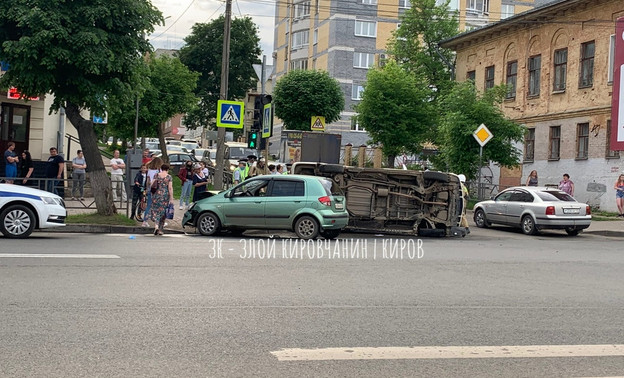
M 148 81 L 139 101 L 139 135 L 158 136 L 164 147 L 162 123 L 176 114 L 195 108 L 197 97 L 193 94 L 199 74 L 192 72 L 180 59 L 167 55 L 151 56 L 147 60 Z M 109 114 L 109 123 L 115 135 L 132 139 L 136 117 L 136 104 L 126 103 L 116 114 Z M 167 159 L 167 151 L 162 148 Z

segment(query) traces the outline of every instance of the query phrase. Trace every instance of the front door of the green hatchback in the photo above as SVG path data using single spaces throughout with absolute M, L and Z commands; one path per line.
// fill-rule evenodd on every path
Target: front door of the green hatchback
M 225 227 L 264 228 L 264 200 L 269 179 L 244 181 L 234 187 L 222 205 Z

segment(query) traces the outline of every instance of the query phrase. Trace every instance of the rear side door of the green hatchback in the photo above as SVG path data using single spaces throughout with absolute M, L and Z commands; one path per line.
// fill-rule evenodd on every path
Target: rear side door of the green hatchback
M 264 208 L 267 227 L 288 229 L 293 215 L 306 205 L 305 181 L 297 178 L 275 179 Z

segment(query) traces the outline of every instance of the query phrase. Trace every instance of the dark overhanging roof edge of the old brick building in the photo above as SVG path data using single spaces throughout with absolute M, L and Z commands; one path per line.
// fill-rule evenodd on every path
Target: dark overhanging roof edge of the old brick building
M 439 45 L 444 48 L 457 49 L 462 44 L 482 39 L 486 36 L 490 36 L 494 32 L 535 27 L 536 24 L 539 25 L 560 17 L 558 13 L 561 11 L 568 10 L 578 5 L 594 4 L 596 4 L 595 0 L 555 0 L 526 12 L 518 13 L 504 20 L 485 25 L 479 29 L 460 33 L 455 37 L 441 41 Z

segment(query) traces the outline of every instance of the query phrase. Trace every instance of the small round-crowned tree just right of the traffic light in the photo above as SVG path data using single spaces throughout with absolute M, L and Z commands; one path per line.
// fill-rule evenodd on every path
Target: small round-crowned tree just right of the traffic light
M 294 70 L 282 77 L 273 89 L 275 115 L 288 130 L 310 130 L 313 116 L 327 123 L 340 119 L 344 93 L 340 83 L 324 71 Z

